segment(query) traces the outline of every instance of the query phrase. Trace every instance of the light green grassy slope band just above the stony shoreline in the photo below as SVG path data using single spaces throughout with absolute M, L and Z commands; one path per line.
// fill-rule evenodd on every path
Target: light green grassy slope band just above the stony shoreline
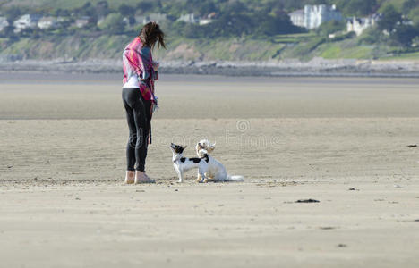
M 0 54 L 21 54 L 26 59 L 89 58 L 117 59 L 133 37 L 106 36 L 67 37 L 50 40 L 21 38 L 12 46 L 4 46 L 0 39 Z M 389 46 L 360 46 L 356 38 L 338 42 L 324 42 L 324 38 L 301 35 L 287 35 L 277 41 L 258 39 L 192 40 L 176 38 L 169 40 L 168 50 L 156 50 L 156 57 L 164 60 L 193 61 L 269 61 L 271 59 L 298 58 L 310 60 L 313 57 L 325 59 L 419 59 L 419 53 L 391 56 Z M 298 43 L 293 43 L 298 40 Z M 393 48 L 394 49 L 394 48 Z M 64 51 L 64 54 L 63 54 Z

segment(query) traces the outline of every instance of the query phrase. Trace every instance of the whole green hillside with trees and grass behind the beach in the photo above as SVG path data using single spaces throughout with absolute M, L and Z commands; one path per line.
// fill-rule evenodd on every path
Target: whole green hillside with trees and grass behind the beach
M 389 18 L 386 25 L 390 29 L 377 25 L 356 37 L 346 33 L 345 22 L 324 23 L 320 29 L 310 31 L 291 24 L 286 13 L 304 4 L 320 2 L 337 4 L 347 17 L 383 13 L 384 18 Z M 168 20 L 161 26 L 167 32 L 168 50 L 156 52 L 165 60 L 419 58 L 419 1 L 416 0 L 127 0 L 124 5 L 123 8 L 116 0 L 0 0 L 0 12 L 11 21 L 23 13 L 67 18 L 60 29 L 0 33 L 0 55 L 17 55 L 23 59 L 119 58 L 124 45 L 141 29 L 139 24 L 124 26 L 121 21 L 124 17 L 166 13 Z M 183 13 L 205 16 L 210 11 L 215 11 L 217 16 L 209 25 L 175 21 Z M 117 14 L 112 17 L 114 21 L 109 21 L 108 14 Z M 93 21 L 82 29 L 73 27 L 73 21 L 86 15 L 96 21 L 106 18 L 108 21 L 103 24 L 106 26 L 98 27 Z M 389 33 L 384 34 L 383 29 Z

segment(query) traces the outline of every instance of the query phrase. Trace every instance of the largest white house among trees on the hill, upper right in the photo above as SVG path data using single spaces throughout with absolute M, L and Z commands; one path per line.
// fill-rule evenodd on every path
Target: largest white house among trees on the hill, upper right
M 334 4 L 306 4 L 304 10 L 297 10 L 288 15 L 294 25 L 307 29 L 318 28 L 321 23 L 327 21 L 342 21 L 342 13 L 336 9 Z

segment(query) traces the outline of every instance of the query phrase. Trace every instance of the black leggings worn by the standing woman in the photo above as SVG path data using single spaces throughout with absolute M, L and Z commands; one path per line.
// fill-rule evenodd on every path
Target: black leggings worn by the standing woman
M 149 146 L 151 101 L 142 98 L 140 88 L 123 88 L 122 96 L 130 129 L 126 146 L 126 170 L 144 172 Z

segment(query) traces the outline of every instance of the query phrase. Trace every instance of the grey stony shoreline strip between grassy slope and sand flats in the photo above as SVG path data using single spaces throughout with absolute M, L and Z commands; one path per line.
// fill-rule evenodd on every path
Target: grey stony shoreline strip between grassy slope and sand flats
M 120 73 L 121 63 L 115 60 L 90 62 L 6 61 L 0 72 L 33 73 Z M 232 77 L 365 77 L 419 78 L 419 61 L 360 61 L 312 59 L 310 62 L 163 62 L 163 74 L 221 75 Z

